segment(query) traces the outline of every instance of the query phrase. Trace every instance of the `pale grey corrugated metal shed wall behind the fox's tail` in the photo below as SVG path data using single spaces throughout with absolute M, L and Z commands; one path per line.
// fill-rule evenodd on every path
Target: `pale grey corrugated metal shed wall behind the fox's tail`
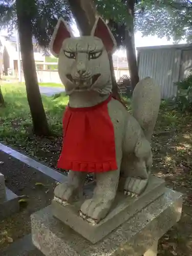
M 175 96 L 173 82 L 179 79 L 181 50 L 154 49 L 139 53 L 139 77 L 153 77 L 161 87 L 162 98 Z

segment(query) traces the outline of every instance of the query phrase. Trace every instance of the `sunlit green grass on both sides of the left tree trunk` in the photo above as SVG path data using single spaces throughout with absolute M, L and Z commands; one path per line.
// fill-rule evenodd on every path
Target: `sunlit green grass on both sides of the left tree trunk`
M 6 102 L 0 108 L 0 139 L 11 144 L 28 138 L 32 129 L 32 120 L 23 84 L 6 84 L 2 86 Z M 49 126 L 55 133 L 61 133 L 62 115 L 68 103 L 68 97 L 63 93 L 59 97 L 42 96 Z

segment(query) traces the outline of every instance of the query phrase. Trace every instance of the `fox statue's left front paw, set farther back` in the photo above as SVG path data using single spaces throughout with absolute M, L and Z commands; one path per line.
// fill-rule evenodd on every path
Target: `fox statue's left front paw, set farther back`
M 75 186 L 68 183 L 60 183 L 55 187 L 54 200 L 66 205 L 67 202 L 72 201 L 75 193 L 77 193 L 77 188 Z

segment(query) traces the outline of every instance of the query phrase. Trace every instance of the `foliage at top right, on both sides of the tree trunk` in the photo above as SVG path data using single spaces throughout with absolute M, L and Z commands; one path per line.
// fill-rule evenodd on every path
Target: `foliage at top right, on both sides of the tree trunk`
M 130 0 L 131 1 L 131 0 Z M 190 0 L 142 0 L 135 1 L 135 30 L 143 36 L 157 35 L 192 41 L 192 1 Z M 118 46 L 125 39 L 125 24 L 132 18 L 127 13 L 127 0 L 95 0 L 99 13 L 109 20 L 109 26 Z

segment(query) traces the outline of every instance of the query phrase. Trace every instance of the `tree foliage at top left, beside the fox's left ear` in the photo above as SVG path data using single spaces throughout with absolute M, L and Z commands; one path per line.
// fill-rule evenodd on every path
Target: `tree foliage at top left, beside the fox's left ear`
M 17 10 L 16 10 L 17 2 Z M 59 17 L 70 22 L 72 16 L 66 0 L 0 0 L 0 28 L 10 32 L 17 28 L 16 11 L 31 20 L 34 39 L 47 48 Z

